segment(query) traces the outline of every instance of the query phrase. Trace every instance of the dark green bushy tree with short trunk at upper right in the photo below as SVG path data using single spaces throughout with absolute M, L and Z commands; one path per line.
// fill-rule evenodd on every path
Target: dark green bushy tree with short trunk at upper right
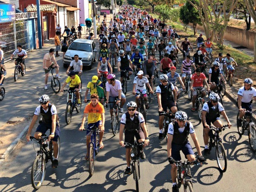
M 180 20 L 183 21 L 184 26 L 189 23 L 193 24 L 194 35 L 197 33 L 197 24 L 201 25 L 199 12 L 189 2 L 180 8 Z

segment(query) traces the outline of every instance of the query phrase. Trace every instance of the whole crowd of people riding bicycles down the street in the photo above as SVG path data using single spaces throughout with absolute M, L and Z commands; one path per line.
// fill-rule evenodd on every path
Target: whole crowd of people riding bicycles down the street
M 146 39 L 148 39 L 148 43 L 146 43 Z M 100 51 L 97 70 L 95 70 L 95 75 L 92 76 L 92 80 L 87 83 L 84 101 L 88 102 L 88 93 L 90 92 L 90 102 L 84 109 L 83 119 L 79 127 L 79 130 L 87 129 L 87 149 L 90 143 L 89 130 L 93 126 L 97 126 L 100 130 L 100 149 L 104 147 L 102 141 L 105 123 L 104 107 L 109 104 L 110 116 L 112 116 L 114 105 L 120 105 L 120 113 L 123 113 L 123 115 L 120 122 L 119 145 L 126 147 L 127 168 L 125 174 L 131 174 L 131 148 L 125 145 L 125 143 L 134 144 L 134 137 L 138 143 L 143 142 L 144 145 L 138 147 L 137 154 L 141 159 L 146 158 L 143 148 L 149 145 L 149 136 L 147 133 L 146 116 L 140 113 L 138 109 L 139 101 L 140 99 L 144 99 L 146 109 L 149 109 L 148 97 L 156 92 L 159 111 L 159 140 L 164 138 L 163 122 L 166 112 L 170 112 L 173 119 L 175 119 L 175 121 L 170 122 L 168 125 L 166 155 L 171 164 L 172 190 L 173 192 L 178 191 L 175 179 L 177 175 L 175 161 L 181 160 L 180 150 L 188 161 L 195 160 L 188 136 L 191 135 L 197 149 L 199 155 L 198 161 L 203 162 L 204 156 L 210 153 L 208 143 L 211 124 L 215 127 L 222 127 L 223 123 L 220 120 L 221 114 L 227 122 L 228 127 L 230 128 L 232 126 L 225 113 L 223 104 L 219 102 L 219 96 L 214 90 L 216 87 L 219 88 L 218 91 L 221 90 L 221 86 L 219 86 L 219 76 L 224 84 L 226 84 L 225 74 L 227 74 L 227 70 L 234 70 L 233 66 L 237 66 L 237 63 L 230 57 L 230 54 L 227 54 L 226 57 L 223 58 L 223 54 L 219 53 L 218 58 L 214 60 L 213 66 L 209 69 L 209 74 L 205 74 L 204 69 L 207 68 L 206 62 L 209 61 L 209 53 L 212 52 L 211 47 L 213 46 L 209 38 L 205 41 L 204 38 L 202 38 L 202 34 L 200 34 L 196 40 L 197 51 L 195 51 L 193 57 L 191 57 L 190 52 L 193 51 L 193 47 L 188 38 L 182 41 L 172 26 L 167 26 L 163 21 L 153 18 L 144 10 L 126 4 L 119 8 L 119 12 L 114 14 L 114 19 L 111 18 L 109 22 L 107 22 L 107 17 L 104 17 L 102 25 L 100 26 L 98 40 L 100 41 Z M 181 40 L 181 43 L 179 40 Z M 17 59 L 26 59 L 26 51 L 23 51 L 21 48 L 22 46 L 19 45 L 12 57 L 15 54 L 19 56 L 22 53 L 22 57 L 18 57 Z M 181 65 L 178 65 L 179 51 L 182 52 L 183 56 Z M 156 58 L 157 52 L 159 53 L 159 58 Z M 45 62 L 43 63 L 43 68 L 45 69 L 45 74 L 49 72 L 48 68 L 50 66 L 57 66 L 56 60 L 55 63 L 52 63 L 54 61 L 51 59 L 52 55 L 54 55 L 53 49 L 44 57 Z M 75 70 L 70 71 L 71 66 L 67 69 L 66 73 L 68 78 L 62 85 L 60 91 L 62 92 L 66 84 L 69 83 L 69 90 L 76 91 L 77 103 L 81 104 L 82 98 L 79 96 L 79 91 L 81 90 L 81 75 L 83 71 L 78 55 L 74 55 L 74 59 L 72 66 Z M 110 64 L 111 59 L 114 59 L 114 62 L 112 62 L 114 65 Z M 0 64 L 3 64 L 3 52 L 1 52 L 1 47 Z M 176 72 L 178 68 L 180 68 L 181 74 Z M 116 75 L 114 74 L 115 69 L 118 71 L 116 73 L 120 72 L 120 80 L 116 79 Z M 23 71 L 23 68 L 21 70 Z M 133 101 L 126 103 L 126 95 L 122 92 L 123 78 L 127 78 L 129 81 L 133 74 L 135 74 L 135 78 L 132 80 L 132 94 L 135 95 L 135 97 Z M 6 75 L 6 72 L 1 70 L 0 85 L 2 85 L 2 77 L 4 75 Z M 206 76 L 208 76 L 208 79 Z M 102 82 L 103 77 L 107 79 L 105 84 Z M 45 76 L 45 89 L 47 89 L 47 78 L 48 76 Z M 155 78 L 159 78 L 160 80 L 156 88 L 154 88 L 153 83 Z M 195 102 L 200 92 L 202 98 L 206 97 L 207 93 L 209 97 L 209 101 L 204 102 L 201 112 L 201 123 L 204 127 L 203 153 L 201 152 L 192 123 L 188 120 L 187 114 L 180 110 L 182 109 L 182 105 L 180 104 L 178 106 L 178 98 L 182 96 L 181 91 L 186 90 L 187 78 L 191 80 L 189 90 L 187 91 L 192 92 L 192 112 L 195 111 Z M 178 85 L 177 82 L 179 82 L 180 85 Z M 252 99 L 254 98 L 254 100 L 256 100 L 256 89 L 252 87 L 252 83 L 253 81 L 250 78 L 244 79 L 244 86 L 238 91 L 237 107 L 239 108 L 240 114 L 237 120 L 237 126 L 241 126 L 242 118 L 246 112 L 252 111 Z M 103 95 L 100 94 L 99 87 L 104 90 Z M 43 123 L 39 124 L 34 137 L 39 139 L 42 133 L 50 129 L 51 134 L 49 140 L 53 140 L 53 147 L 56 151 L 58 150 L 56 141 L 60 133 L 57 109 L 55 105 L 50 103 L 50 98 L 47 95 L 42 95 L 39 98 L 39 102 L 40 105 L 36 108 L 26 138 L 29 140 L 36 119 L 39 114 L 42 114 Z M 127 111 L 123 109 L 124 107 L 127 108 Z M 85 128 L 84 124 L 86 119 L 88 119 L 88 125 Z M 88 153 L 89 151 L 87 150 L 85 160 L 88 160 Z M 58 157 L 55 155 L 52 167 L 57 166 Z

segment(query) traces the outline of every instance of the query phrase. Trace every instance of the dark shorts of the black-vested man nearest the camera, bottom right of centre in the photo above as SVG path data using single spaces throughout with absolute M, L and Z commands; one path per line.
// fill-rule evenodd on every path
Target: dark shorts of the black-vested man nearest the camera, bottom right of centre
M 186 159 L 187 159 L 187 155 L 193 155 L 194 154 L 193 149 L 192 149 L 189 141 L 186 142 L 183 145 L 177 145 L 177 144 L 172 143 L 171 144 L 171 156 L 175 161 L 180 161 L 181 160 L 180 150 L 183 152 Z

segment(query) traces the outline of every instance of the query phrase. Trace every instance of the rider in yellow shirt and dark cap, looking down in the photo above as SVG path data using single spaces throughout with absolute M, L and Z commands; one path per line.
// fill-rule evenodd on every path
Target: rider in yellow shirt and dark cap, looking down
M 69 83 L 69 91 L 76 90 L 75 94 L 76 94 L 76 98 L 77 98 L 77 104 L 81 104 L 81 98 L 79 95 L 79 90 L 81 89 L 81 85 L 82 85 L 81 80 L 80 80 L 79 76 L 76 75 L 75 71 L 69 71 L 68 76 L 69 77 L 63 83 L 63 85 L 59 91 L 62 92 L 64 87 L 66 86 L 66 84 Z

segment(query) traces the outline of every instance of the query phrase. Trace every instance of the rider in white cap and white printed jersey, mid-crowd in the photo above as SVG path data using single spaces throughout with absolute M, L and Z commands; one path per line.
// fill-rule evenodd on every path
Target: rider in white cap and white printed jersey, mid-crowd
M 146 85 L 149 88 L 150 93 L 154 93 L 154 91 L 149 85 L 149 81 L 147 77 L 143 76 L 143 71 L 139 71 L 133 81 L 133 95 L 135 95 L 135 102 L 137 106 L 139 106 L 139 99 L 140 99 L 139 93 L 142 93 L 144 95 L 146 109 L 149 109 L 149 104 L 147 103 Z

